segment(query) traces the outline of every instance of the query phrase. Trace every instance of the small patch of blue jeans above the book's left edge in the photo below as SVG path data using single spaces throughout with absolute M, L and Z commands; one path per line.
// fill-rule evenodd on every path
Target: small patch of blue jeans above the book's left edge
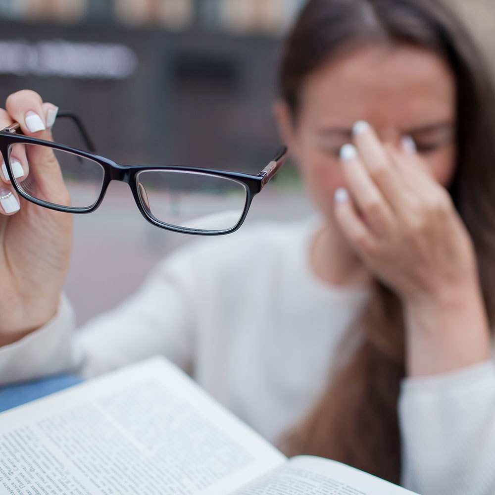
M 75 375 L 58 375 L 3 387 L 0 389 L 0 412 L 81 382 L 82 379 Z

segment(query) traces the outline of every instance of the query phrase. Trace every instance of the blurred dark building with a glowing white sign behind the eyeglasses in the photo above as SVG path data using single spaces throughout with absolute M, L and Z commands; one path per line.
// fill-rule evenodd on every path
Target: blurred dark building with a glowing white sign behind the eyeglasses
M 116 160 L 256 169 L 277 145 L 279 35 L 300 3 L 3 0 L 0 88 L 81 114 Z

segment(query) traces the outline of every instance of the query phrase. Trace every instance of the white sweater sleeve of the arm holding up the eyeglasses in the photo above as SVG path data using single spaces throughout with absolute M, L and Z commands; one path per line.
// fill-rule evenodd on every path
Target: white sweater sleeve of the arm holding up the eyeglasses
M 89 378 L 157 354 L 191 367 L 195 254 L 183 248 L 168 256 L 132 297 L 78 330 L 62 297 L 49 323 L 0 347 L 0 385 L 66 372 Z

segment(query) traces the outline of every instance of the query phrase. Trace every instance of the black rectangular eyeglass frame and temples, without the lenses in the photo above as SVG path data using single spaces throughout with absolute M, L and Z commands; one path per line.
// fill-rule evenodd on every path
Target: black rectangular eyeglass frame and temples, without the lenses
M 280 169 L 280 167 L 283 165 L 283 163 L 287 158 L 287 148 L 285 146 L 282 146 L 277 150 L 277 153 L 275 154 L 273 159 L 270 160 L 268 165 L 266 165 L 263 168 L 263 170 L 261 170 L 261 172 L 259 172 L 257 175 L 246 174 L 242 172 L 229 172 L 223 170 L 176 166 L 176 165 L 122 165 L 120 163 L 116 163 L 113 160 L 110 160 L 109 158 L 105 158 L 104 156 L 95 153 L 95 147 L 93 146 L 93 143 L 89 138 L 88 133 L 86 132 L 84 126 L 82 125 L 82 122 L 77 117 L 77 115 L 75 115 L 72 112 L 64 111 L 64 112 L 58 112 L 57 118 L 58 117 L 68 117 L 74 121 L 74 123 L 79 128 L 82 137 L 84 138 L 85 144 L 89 149 L 92 150 L 92 152 L 84 151 L 78 148 L 72 148 L 70 146 L 54 143 L 52 141 L 46 141 L 43 139 L 33 138 L 31 136 L 25 136 L 24 134 L 22 134 L 22 131 L 20 130 L 20 126 L 17 122 L 15 122 L 14 124 L 8 127 L 5 127 L 0 131 L 0 152 L 4 157 L 7 172 L 10 177 L 13 177 L 14 175 L 12 173 L 12 168 L 10 166 L 9 149 L 14 144 L 19 144 L 19 143 L 26 145 L 47 146 L 52 149 L 73 153 L 74 155 L 78 155 L 83 158 L 87 158 L 99 163 L 99 165 L 103 168 L 104 171 L 103 181 L 101 183 L 101 191 L 97 200 L 91 206 L 88 207 L 62 206 L 48 201 L 43 201 L 42 199 L 33 198 L 32 196 L 22 191 L 22 189 L 19 188 L 15 180 L 11 180 L 11 184 L 14 190 L 20 197 L 27 199 L 32 203 L 38 204 L 39 206 L 43 206 L 45 208 L 49 208 L 56 211 L 64 211 L 67 213 L 91 213 L 92 211 L 95 211 L 101 204 L 101 201 L 105 196 L 106 190 L 110 182 L 116 180 L 116 181 L 125 182 L 129 185 L 134 200 L 141 214 L 148 222 L 150 222 L 151 224 L 157 227 L 174 232 L 182 232 L 185 234 L 195 234 L 195 235 L 215 236 L 215 235 L 230 234 L 231 232 L 235 232 L 236 230 L 239 229 L 239 227 L 241 227 L 244 220 L 246 219 L 247 212 L 251 205 L 252 199 L 256 194 L 258 194 L 263 189 L 263 187 L 270 181 L 270 179 L 278 172 L 278 170 Z M 138 191 L 138 181 L 137 181 L 137 175 L 140 172 L 160 171 L 160 170 L 196 173 L 200 175 L 209 175 L 209 176 L 227 178 L 240 182 L 241 184 L 244 185 L 247 194 L 246 194 L 246 202 L 244 205 L 244 211 L 239 221 L 232 228 L 223 229 L 223 230 L 203 230 L 196 228 L 181 227 L 177 225 L 168 224 L 165 222 L 160 222 L 151 214 L 148 207 L 142 200 L 140 193 Z

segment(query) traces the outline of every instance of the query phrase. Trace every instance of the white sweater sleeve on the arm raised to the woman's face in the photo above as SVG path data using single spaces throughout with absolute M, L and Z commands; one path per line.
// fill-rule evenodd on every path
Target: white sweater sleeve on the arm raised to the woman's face
M 495 364 L 407 378 L 398 403 L 402 484 L 422 495 L 495 493 Z

